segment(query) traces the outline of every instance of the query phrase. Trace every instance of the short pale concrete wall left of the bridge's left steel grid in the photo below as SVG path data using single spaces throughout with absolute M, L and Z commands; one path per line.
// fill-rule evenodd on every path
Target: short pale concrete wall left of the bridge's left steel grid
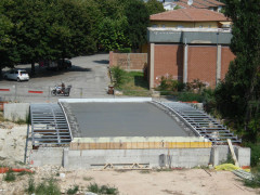
M 4 119 L 12 121 L 26 120 L 29 114 L 29 103 L 9 103 L 4 104 Z

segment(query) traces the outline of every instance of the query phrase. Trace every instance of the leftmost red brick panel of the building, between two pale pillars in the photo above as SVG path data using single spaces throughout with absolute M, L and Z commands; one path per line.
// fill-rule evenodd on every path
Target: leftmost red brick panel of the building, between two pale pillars
M 183 76 L 183 46 L 155 44 L 154 53 L 154 82 L 160 83 L 160 78 L 172 76 L 182 80 Z

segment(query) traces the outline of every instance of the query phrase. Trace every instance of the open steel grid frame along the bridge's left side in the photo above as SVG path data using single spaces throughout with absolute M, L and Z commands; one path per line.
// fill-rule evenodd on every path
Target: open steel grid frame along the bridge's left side
M 66 145 L 72 133 L 60 104 L 30 104 L 32 146 Z

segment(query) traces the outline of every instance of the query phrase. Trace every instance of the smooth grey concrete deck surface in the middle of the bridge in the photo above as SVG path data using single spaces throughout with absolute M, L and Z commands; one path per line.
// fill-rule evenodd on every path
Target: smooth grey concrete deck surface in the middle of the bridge
M 152 103 L 69 103 L 77 136 L 188 136 L 178 122 Z

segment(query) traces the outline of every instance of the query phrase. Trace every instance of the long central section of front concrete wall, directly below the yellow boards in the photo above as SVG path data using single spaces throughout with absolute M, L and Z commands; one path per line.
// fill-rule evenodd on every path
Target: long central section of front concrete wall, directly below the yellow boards
M 210 160 L 210 150 L 65 150 L 64 167 L 94 168 L 105 164 L 148 164 L 150 167 L 159 167 L 159 156 L 164 155 L 167 156 L 165 166 L 192 168 L 198 165 L 207 166 Z

